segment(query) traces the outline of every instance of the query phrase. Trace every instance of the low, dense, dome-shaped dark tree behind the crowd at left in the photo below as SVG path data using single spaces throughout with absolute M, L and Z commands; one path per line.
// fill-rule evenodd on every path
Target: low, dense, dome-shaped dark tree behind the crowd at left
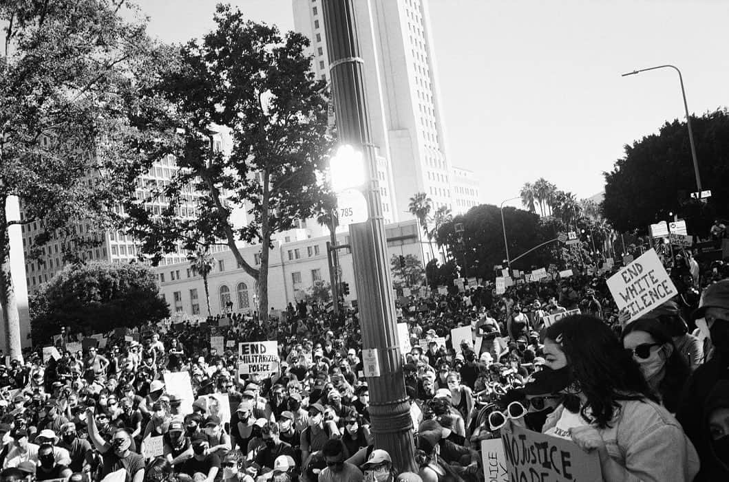
M 169 316 L 157 277 L 147 266 L 69 264 L 31 297 L 31 336 L 40 344 L 63 326 L 71 333 L 106 333 Z

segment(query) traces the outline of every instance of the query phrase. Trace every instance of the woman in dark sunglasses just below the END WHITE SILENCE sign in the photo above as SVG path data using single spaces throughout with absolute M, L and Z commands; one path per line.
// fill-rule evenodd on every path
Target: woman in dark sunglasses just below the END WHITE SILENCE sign
M 638 363 L 651 390 L 658 393 L 660 403 L 675 414 L 690 369 L 666 326 L 655 318 L 635 320 L 623 329 L 623 347 Z

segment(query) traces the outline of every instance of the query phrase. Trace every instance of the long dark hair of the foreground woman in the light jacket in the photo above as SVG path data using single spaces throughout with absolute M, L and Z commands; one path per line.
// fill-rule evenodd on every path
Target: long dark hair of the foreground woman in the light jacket
M 545 331 L 561 346 L 569 363 L 572 380 L 587 398 L 580 413 L 605 428 L 620 407 L 618 400 L 658 402 L 638 364 L 615 333 L 599 318 L 589 315 L 564 317 Z M 590 414 L 586 413 L 589 408 Z

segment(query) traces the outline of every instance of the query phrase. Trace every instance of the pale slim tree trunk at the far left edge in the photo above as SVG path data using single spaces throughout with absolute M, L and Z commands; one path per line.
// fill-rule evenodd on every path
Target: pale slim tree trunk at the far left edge
M 17 311 L 15 288 L 12 284 L 10 266 L 10 233 L 7 226 L 7 197 L 0 201 L 0 308 L 3 315 L 6 355 L 12 360 L 23 361 L 23 347 L 20 343 L 20 313 Z M 22 255 L 21 255 L 22 256 Z

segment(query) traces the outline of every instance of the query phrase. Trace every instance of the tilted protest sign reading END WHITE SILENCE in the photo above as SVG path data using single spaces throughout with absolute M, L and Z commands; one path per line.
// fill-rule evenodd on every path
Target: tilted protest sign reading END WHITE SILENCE
M 619 309 L 628 309 L 628 323 L 663 304 L 678 293 L 655 250 L 642 256 L 609 277 L 607 288 Z

